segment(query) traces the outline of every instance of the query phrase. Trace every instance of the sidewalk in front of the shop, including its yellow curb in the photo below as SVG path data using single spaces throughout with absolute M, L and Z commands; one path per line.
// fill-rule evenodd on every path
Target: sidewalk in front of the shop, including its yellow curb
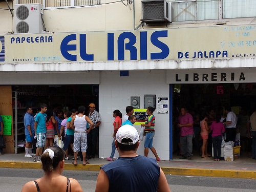
M 26 158 L 24 155 L 24 153 L 4 154 L 0 156 L 0 167 L 41 168 L 41 163 L 33 162 L 33 158 Z M 78 165 L 74 166 L 72 156 L 69 157 L 71 160 L 65 161 L 66 170 L 99 171 L 101 165 L 110 162 L 106 159 L 93 158 L 89 160 L 89 165 L 83 166 L 79 158 Z M 173 158 L 158 162 L 167 175 L 256 179 L 256 160 L 248 157 L 240 156 L 234 161 L 213 161 L 212 158 L 203 159 L 199 155 L 194 155 L 193 160 L 179 160 L 179 156 L 175 155 Z

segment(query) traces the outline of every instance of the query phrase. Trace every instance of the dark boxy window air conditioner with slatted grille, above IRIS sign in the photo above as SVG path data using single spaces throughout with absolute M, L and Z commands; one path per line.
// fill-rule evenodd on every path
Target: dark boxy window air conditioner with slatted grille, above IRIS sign
M 142 3 L 142 22 L 159 23 L 172 22 L 170 3 L 168 0 L 144 0 Z

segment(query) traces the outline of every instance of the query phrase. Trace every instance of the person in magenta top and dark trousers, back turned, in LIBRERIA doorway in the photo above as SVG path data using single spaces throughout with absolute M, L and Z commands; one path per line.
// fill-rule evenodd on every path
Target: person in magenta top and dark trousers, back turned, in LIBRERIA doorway
M 214 145 L 214 161 L 220 161 L 221 157 L 221 142 L 222 142 L 222 132 L 225 132 L 225 127 L 222 122 L 220 122 L 221 116 L 216 116 L 216 121 L 211 123 L 210 130 L 212 131 L 212 144 Z

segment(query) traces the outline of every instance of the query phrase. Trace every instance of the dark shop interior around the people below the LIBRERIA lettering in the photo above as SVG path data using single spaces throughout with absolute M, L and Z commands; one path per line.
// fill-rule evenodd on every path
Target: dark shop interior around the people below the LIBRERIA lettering
M 237 115 L 237 133 L 240 134 L 241 145 L 238 159 L 252 160 L 250 147 L 248 147 L 246 120 L 249 119 L 253 107 L 256 106 L 256 83 L 174 84 L 173 159 L 179 159 L 179 141 L 177 139 L 179 138 L 179 128 L 176 125 L 180 107 L 186 106 L 188 113 L 193 117 L 196 114 L 208 115 L 211 110 L 214 110 L 215 114 L 225 116 L 223 109 L 225 105 L 231 106 L 232 111 Z M 201 160 L 200 151 L 195 148 L 194 139 L 193 158 Z M 211 147 L 208 147 L 208 154 L 211 154 Z

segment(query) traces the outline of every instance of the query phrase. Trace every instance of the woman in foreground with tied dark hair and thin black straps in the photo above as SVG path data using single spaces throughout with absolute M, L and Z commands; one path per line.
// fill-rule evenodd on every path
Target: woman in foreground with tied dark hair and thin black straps
M 45 175 L 35 181 L 27 182 L 22 192 L 82 191 L 79 182 L 62 176 L 65 152 L 58 146 L 50 146 L 41 155 L 42 169 Z M 72 190 L 71 190 L 72 186 Z

